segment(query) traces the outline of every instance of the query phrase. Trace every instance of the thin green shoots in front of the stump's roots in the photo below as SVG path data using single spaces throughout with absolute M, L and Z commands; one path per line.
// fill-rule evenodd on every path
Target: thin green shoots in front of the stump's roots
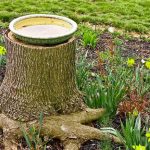
M 23 136 L 26 140 L 26 143 L 30 149 L 39 150 L 41 148 L 44 148 L 46 150 L 46 143 L 42 141 L 40 138 L 40 133 L 42 129 L 42 123 L 43 123 L 43 114 L 40 114 L 39 117 L 39 128 L 36 129 L 35 126 L 31 126 L 29 128 L 29 131 L 27 132 L 22 126 L 21 131 L 23 133 Z

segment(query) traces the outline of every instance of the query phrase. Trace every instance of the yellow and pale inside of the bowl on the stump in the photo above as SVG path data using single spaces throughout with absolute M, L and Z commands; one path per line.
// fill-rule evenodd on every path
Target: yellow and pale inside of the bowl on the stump
M 49 39 L 63 37 L 71 32 L 71 23 L 53 17 L 23 18 L 14 23 L 14 29 L 23 37 Z

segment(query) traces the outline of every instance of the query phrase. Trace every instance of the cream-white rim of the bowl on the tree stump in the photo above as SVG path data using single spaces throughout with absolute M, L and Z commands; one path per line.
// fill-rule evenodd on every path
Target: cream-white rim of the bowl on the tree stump
M 60 19 L 63 21 L 66 21 L 68 23 L 71 24 L 72 28 L 71 30 L 69 30 L 66 34 L 60 35 L 60 36 L 53 36 L 53 37 L 32 37 L 32 36 L 27 36 L 24 34 L 19 33 L 15 28 L 14 25 L 19 22 L 22 21 L 24 19 L 28 19 L 28 18 L 36 18 L 36 17 L 44 17 L 44 18 L 56 18 L 56 19 Z M 26 15 L 26 16 L 21 16 L 18 17 L 14 20 L 12 20 L 9 24 L 9 29 L 12 33 L 14 33 L 17 36 L 21 36 L 21 37 L 25 37 L 25 38 L 30 38 L 30 39 L 57 39 L 57 38 L 61 38 L 61 37 L 66 37 L 66 36 L 70 36 L 72 35 L 76 30 L 77 30 L 77 23 L 75 21 L 73 21 L 70 18 L 64 17 L 64 16 L 58 16 L 58 15 L 50 15 L 50 14 L 32 14 L 32 15 Z

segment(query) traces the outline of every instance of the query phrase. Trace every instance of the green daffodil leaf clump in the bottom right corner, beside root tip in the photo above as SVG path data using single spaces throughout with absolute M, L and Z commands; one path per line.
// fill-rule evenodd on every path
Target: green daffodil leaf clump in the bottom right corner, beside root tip
M 133 146 L 143 145 L 147 149 L 150 148 L 148 139 L 146 138 L 146 126 L 142 126 L 140 114 L 136 117 L 133 114 L 126 118 L 125 124 L 121 123 L 121 131 L 117 131 L 113 128 L 101 128 L 104 133 L 109 133 L 117 136 L 124 143 L 126 150 L 132 150 Z

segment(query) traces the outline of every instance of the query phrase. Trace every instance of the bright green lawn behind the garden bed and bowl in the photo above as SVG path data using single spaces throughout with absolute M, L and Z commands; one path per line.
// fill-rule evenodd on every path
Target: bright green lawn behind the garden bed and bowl
M 149 12 L 149 0 L 2 0 L 0 26 L 8 26 L 18 16 L 46 13 L 68 16 L 81 24 L 90 22 L 148 33 Z

